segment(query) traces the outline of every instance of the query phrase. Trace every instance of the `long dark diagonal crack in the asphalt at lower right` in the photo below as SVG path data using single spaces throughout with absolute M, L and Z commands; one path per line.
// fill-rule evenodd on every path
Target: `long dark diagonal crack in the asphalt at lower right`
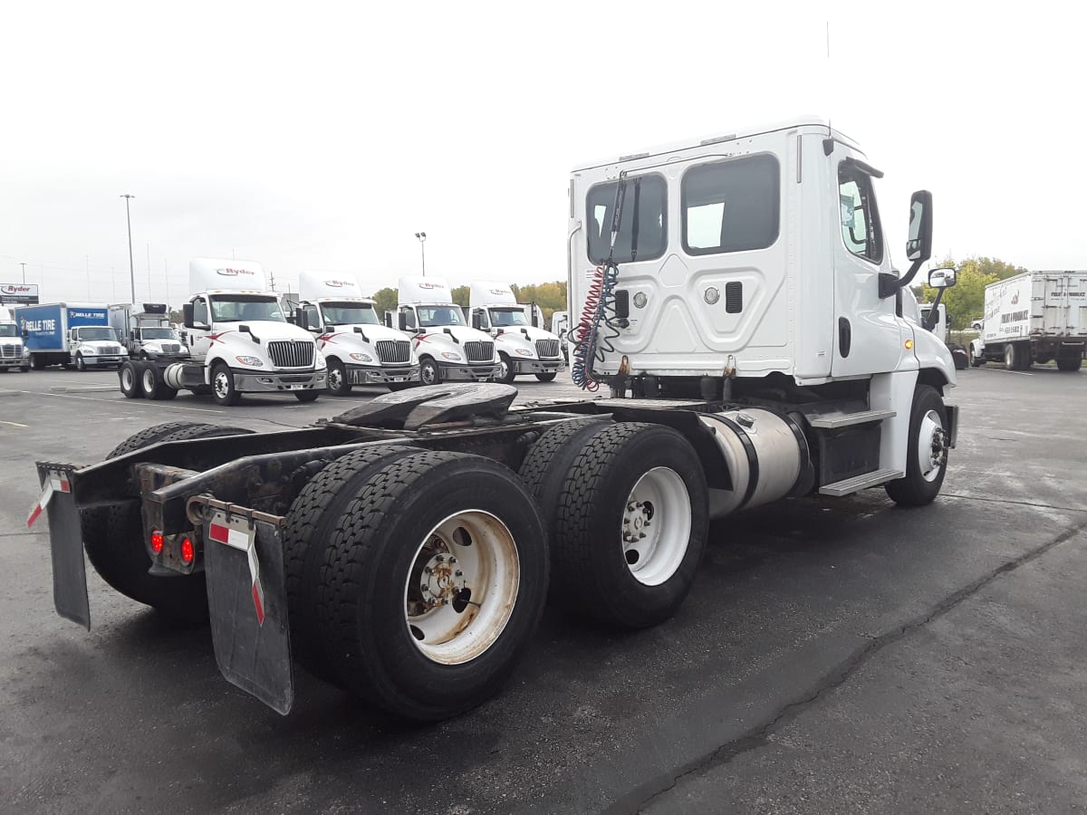
M 746 734 L 717 747 L 707 755 L 696 758 L 695 761 L 682 766 L 677 772 L 673 773 L 663 785 L 657 785 L 655 789 L 653 783 L 642 785 L 640 788 L 635 789 L 633 792 L 612 803 L 610 806 L 604 808 L 603 812 L 607 815 L 642 812 L 646 806 L 651 804 L 655 799 L 660 798 L 664 793 L 675 789 L 679 781 L 688 776 L 723 766 L 744 753 L 767 744 L 770 742 L 770 737 L 779 725 L 796 718 L 803 713 L 807 707 L 819 701 L 822 697 L 844 685 L 847 679 L 849 679 L 869 661 L 869 659 L 882 651 L 885 647 L 908 637 L 921 628 L 924 628 L 933 620 L 947 614 L 960 603 L 974 597 L 977 592 L 989 586 L 997 578 L 1010 572 L 1014 572 L 1021 566 L 1037 560 L 1053 548 L 1071 540 L 1084 529 L 1087 529 L 1087 521 L 1083 521 L 1079 524 L 1070 527 L 1052 540 L 1024 552 L 1019 557 L 1014 557 L 1000 564 L 976 580 L 944 598 L 944 600 L 938 602 L 925 614 L 914 617 L 908 623 L 882 634 L 878 637 L 871 638 L 869 642 L 861 645 L 850 656 L 844 660 L 835 669 L 829 672 L 823 680 L 811 690 L 811 692 L 805 694 L 802 699 L 786 704 L 765 724 L 751 728 Z

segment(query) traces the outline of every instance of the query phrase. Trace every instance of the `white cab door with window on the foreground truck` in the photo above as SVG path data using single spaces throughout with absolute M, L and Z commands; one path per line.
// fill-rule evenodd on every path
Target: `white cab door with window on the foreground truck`
M 830 376 L 894 371 L 903 353 L 897 297 L 879 297 L 879 273 L 891 272 L 874 180 L 882 173 L 840 145 L 829 161 L 839 235 L 832 239 L 835 271 L 834 354 Z M 835 164 L 837 166 L 835 166 Z

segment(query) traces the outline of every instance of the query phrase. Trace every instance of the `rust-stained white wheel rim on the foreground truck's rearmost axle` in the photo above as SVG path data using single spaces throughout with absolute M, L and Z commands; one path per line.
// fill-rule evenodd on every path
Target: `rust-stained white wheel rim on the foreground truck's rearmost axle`
M 426 535 L 408 570 L 408 635 L 432 662 L 471 662 L 502 634 L 520 586 L 517 547 L 505 524 L 483 510 L 450 515 Z

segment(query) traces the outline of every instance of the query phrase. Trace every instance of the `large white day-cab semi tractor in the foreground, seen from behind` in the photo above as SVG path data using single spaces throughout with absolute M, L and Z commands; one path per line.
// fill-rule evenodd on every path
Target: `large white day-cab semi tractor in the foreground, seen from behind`
M 875 486 L 932 502 L 955 372 L 899 297 L 932 195 L 913 193 L 899 276 L 880 176 L 810 117 L 578 166 L 572 374 L 599 398 L 437 384 L 298 430 L 170 423 L 98 464 L 39 462 L 59 613 L 90 625 L 86 549 L 122 593 L 210 614 L 223 675 L 280 713 L 297 661 L 433 720 L 498 692 L 549 598 L 667 619 L 712 518 Z

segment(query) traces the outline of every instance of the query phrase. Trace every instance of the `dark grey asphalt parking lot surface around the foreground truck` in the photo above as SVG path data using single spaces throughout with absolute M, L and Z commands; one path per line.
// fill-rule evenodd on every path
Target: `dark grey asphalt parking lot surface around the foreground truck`
M 407 727 L 299 672 L 280 717 L 90 576 L 55 616 L 34 461 L 160 422 L 270 430 L 311 404 L 125 400 L 111 372 L 0 374 L 0 787 L 12 812 L 1073 812 L 1087 802 L 1087 373 L 960 372 L 959 446 L 922 510 L 884 491 L 715 524 L 671 622 L 548 612 L 504 692 Z M 578 393 L 515 383 L 522 400 Z

